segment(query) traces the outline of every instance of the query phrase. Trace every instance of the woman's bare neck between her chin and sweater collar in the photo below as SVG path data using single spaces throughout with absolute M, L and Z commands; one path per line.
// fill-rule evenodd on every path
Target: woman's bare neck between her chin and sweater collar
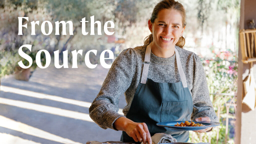
M 168 49 L 163 49 L 163 48 L 159 48 L 157 46 L 154 45 L 154 43 L 151 43 L 151 51 L 154 55 L 158 56 L 158 57 L 162 57 L 162 58 L 169 58 L 171 56 L 174 55 L 174 48 L 168 48 Z

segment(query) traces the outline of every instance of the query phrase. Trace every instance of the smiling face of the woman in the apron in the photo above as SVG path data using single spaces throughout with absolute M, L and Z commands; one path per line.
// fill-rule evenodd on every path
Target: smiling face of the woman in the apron
M 153 32 L 152 46 L 159 49 L 174 48 L 185 29 L 182 16 L 175 9 L 160 10 L 154 23 L 148 21 L 148 27 Z

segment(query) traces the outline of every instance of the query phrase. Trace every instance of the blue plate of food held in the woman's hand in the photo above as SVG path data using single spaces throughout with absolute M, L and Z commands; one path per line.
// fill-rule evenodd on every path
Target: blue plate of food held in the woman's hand
M 175 129 L 175 130 L 201 130 L 201 129 L 206 129 L 208 127 L 216 127 L 219 126 L 219 122 L 213 122 L 213 121 L 192 121 L 195 122 L 195 124 L 203 124 L 205 126 L 201 127 L 179 127 L 179 126 L 174 126 L 177 124 L 177 122 L 180 124 L 181 122 L 185 123 L 185 121 L 167 121 L 167 122 L 158 122 L 156 125 L 161 126 L 161 127 L 166 127 L 170 129 Z M 191 121 L 189 121 L 191 122 Z

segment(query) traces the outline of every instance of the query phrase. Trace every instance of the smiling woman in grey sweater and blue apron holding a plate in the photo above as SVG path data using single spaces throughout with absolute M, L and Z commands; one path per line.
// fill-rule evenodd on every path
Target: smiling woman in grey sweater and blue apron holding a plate
M 218 121 L 201 61 L 182 48 L 185 18 L 182 4 L 174 0 L 159 2 L 148 20 L 152 34 L 145 45 L 125 49 L 113 62 L 89 112 L 103 129 L 122 130 L 121 141 L 151 144 L 151 136 L 165 132 L 178 142 L 186 142 L 188 131 L 171 130 L 156 123 Z M 127 102 L 124 116 L 118 114 L 123 93 Z

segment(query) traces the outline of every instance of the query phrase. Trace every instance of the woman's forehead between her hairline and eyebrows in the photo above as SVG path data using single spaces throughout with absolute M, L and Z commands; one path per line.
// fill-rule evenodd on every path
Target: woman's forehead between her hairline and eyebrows
M 155 22 L 178 23 L 182 25 L 182 15 L 175 9 L 162 9 L 158 12 Z

